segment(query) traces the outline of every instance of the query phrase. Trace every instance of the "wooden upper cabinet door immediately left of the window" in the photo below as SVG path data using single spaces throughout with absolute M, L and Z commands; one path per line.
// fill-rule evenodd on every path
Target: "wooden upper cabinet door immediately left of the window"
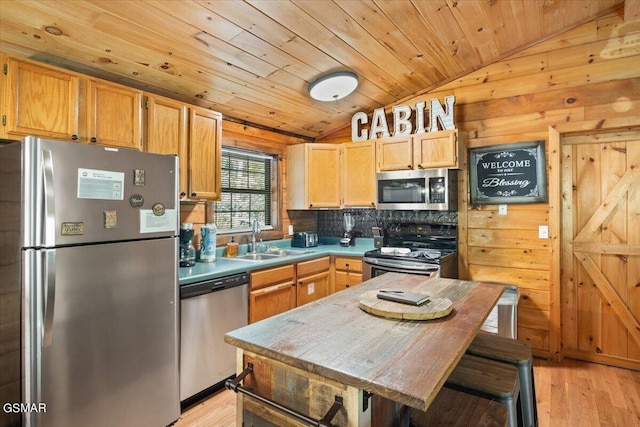
M 220 200 L 222 114 L 192 106 L 189 109 L 188 197 Z

